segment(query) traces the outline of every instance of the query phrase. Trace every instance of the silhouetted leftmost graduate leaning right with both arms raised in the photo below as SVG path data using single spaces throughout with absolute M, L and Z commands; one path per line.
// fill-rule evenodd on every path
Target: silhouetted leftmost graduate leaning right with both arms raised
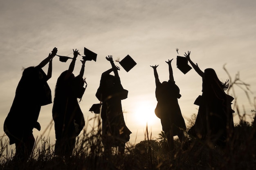
M 52 103 L 51 89 L 47 80 L 52 77 L 52 58 L 57 48 L 52 50 L 38 66 L 25 68 L 16 88 L 10 112 L 4 121 L 4 132 L 9 137 L 10 145 L 15 144 L 14 161 L 25 162 L 34 147 L 33 129 L 40 130 L 37 122 L 41 106 Z M 42 68 L 49 63 L 47 75 Z

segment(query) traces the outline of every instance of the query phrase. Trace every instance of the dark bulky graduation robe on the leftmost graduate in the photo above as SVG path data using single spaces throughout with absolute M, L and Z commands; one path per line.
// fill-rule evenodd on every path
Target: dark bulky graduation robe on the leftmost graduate
M 4 121 L 4 132 L 10 144 L 18 143 L 32 135 L 38 124 L 40 108 L 52 103 L 47 76 L 41 68 L 26 68 L 16 88 L 10 112 Z M 32 135 L 33 136 L 33 135 Z

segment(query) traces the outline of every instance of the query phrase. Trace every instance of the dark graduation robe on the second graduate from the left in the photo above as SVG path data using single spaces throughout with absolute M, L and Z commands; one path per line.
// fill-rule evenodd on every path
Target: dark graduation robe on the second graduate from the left
M 77 98 L 83 96 L 83 78 L 74 77 L 72 74 L 67 80 L 64 79 L 64 71 L 58 78 L 52 117 L 54 119 L 56 139 L 74 139 L 79 135 L 85 125 L 83 113 Z

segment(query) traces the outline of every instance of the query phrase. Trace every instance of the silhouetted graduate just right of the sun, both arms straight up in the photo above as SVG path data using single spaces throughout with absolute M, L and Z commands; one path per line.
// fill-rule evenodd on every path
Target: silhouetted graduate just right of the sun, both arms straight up
M 172 59 L 173 60 L 173 59 Z M 169 81 L 160 83 L 157 66 L 151 66 L 155 75 L 155 96 L 157 98 L 157 107 L 155 114 L 161 119 L 164 133 L 167 136 L 168 149 L 173 150 L 173 136 L 178 135 L 180 141 L 184 140 L 183 130 L 186 130 L 186 124 L 182 117 L 178 99 L 181 97 L 180 89 L 175 84 L 173 78 L 172 60 L 166 62 L 169 66 Z

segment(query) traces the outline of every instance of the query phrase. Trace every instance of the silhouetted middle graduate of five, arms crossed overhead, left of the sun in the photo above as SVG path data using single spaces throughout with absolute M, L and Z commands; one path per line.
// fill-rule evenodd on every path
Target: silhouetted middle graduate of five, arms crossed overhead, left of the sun
M 101 75 L 101 82 L 96 93 L 96 97 L 102 102 L 102 143 L 105 155 L 111 155 L 111 147 L 118 146 L 119 154 L 124 154 L 125 143 L 130 139 L 131 131 L 124 122 L 124 115 L 121 100 L 127 98 L 128 91 L 121 85 L 120 77 L 117 73 L 112 55 L 106 57 L 110 61 L 112 68 Z M 110 75 L 111 72 L 114 75 Z

